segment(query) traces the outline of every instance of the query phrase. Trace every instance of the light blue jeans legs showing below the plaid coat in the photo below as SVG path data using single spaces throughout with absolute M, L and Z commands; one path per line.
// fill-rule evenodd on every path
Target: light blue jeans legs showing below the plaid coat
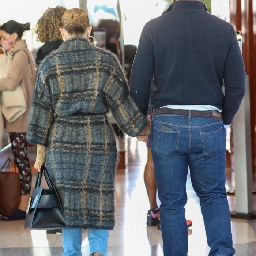
M 93 252 L 100 252 L 107 255 L 109 230 L 88 229 L 88 241 L 90 255 Z M 82 256 L 82 229 L 63 228 L 62 229 L 63 256 Z

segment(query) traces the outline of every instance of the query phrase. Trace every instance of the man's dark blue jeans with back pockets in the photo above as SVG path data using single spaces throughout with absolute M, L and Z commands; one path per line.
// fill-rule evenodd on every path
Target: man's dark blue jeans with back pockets
M 209 256 L 232 256 L 230 210 L 225 188 L 226 130 L 222 120 L 173 114 L 154 115 L 150 147 L 158 196 L 165 256 L 186 256 L 185 218 L 188 166 L 200 199 Z

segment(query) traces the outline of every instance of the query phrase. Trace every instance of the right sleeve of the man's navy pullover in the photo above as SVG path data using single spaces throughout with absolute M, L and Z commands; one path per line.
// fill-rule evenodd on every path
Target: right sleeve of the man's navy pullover
M 234 30 L 224 69 L 223 124 L 231 124 L 245 95 L 245 66 Z

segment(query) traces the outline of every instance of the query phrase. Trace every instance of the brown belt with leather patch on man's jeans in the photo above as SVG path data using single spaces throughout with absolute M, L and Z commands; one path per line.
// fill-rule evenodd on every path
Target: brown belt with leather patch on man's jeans
M 218 112 L 217 110 L 206 110 L 206 111 L 196 111 L 191 110 L 190 115 L 192 117 L 208 117 L 216 120 L 222 120 L 222 113 Z M 180 116 L 188 116 L 189 110 L 182 110 L 182 109 L 169 109 L 169 108 L 160 108 L 154 109 L 154 115 L 162 115 L 162 114 L 174 114 Z

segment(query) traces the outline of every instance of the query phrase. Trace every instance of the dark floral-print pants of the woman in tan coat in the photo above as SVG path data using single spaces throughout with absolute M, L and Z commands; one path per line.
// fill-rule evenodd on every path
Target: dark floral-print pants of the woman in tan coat
M 29 195 L 31 190 L 31 168 L 27 154 L 26 133 L 9 132 L 15 165 L 19 169 L 21 195 Z

